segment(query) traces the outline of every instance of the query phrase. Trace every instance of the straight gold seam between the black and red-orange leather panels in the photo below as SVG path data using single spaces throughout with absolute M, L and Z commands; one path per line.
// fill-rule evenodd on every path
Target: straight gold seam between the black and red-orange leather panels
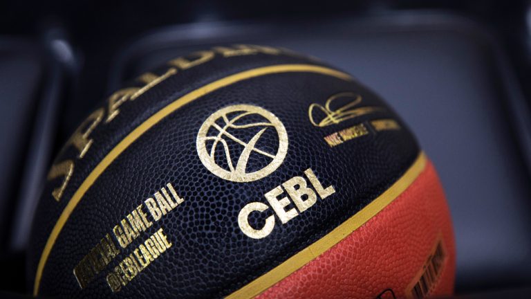
M 409 167 L 407 172 L 405 172 L 398 181 L 393 183 L 389 189 L 380 194 L 379 197 L 365 206 L 365 208 L 362 208 L 360 212 L 357 212 L 353 217 L 348 218 L 321 239 L 318 239 L 310 246 L 299 251 L 299 253 L 288 258 L 285 262 L 274 267 L 268 273 L 261 275 L 259 278 L 253 280 L 238 291 L 225 297 L 225 299 L 254 298 L 280 280 L 288 277 L 291 273 L 301 269 L 301 267 L 308 264 L 308 262 L 315 260 L 316 257 L 350 235 L 354 230 L 365 224 L 366 221 L 369 221 L 369 219 L 378 214 L 378 212 L 383 210 L 389 205 L 389 203 L 402 194 L 402 192 L 415 181 L 420 172 L 424 170 L 425 165 L 426 155 L 424 152 L 420 152 L 416 161 L 411 167 Z

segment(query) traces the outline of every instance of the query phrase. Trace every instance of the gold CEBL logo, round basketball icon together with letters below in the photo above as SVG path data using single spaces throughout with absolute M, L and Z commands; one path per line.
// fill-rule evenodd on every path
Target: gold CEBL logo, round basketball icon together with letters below
M 276 134 L 266 137 L 264 134 L 267 130 Z M 270 139 L 272 135 L 276 135 L 276 139 Z M 267 142 L 259 147 L 261 138 L 267 139 Z M 282 164 L 288 152 L 288 134 L 279 118 L 270 111 L 254 105 L 233 105 L 219 109 L 205 120 L 199 129 L 196 146 L 201 162 L 210 172 L 228 181 L 249 182 L 268 176 Z M 275 147 L 276 153 L 273 153 L 271 149 Z M 239 158 L 233 160 L 234 153 L 239 153 Z M 262 161 L 259 170 L 248 172 L 253 154 L 253 163 L 259 164 L 257 158 L 262 158 L 267 163 Z M 256 165 L 253 167 L 257 168 Z M 313 206 L 319 197 L 325 199 L 335 193 L 333 185 L 323 187 L 311 168 L 304 171 L 304 176 L 294 176 L 265 192 L 264 197 L 269 204 L 254 201 L 245 205 L 238 215 L 241 231 L 253 239 L 267 237 L 275 225 L 274 215 L 277 215 L 282 224 L 286 224 Z M 284 194 L 287 196 L 281 197 Z M 268 216 L 261 228 L 252 227 L 249 223 L 251 213 L 266 212 L 269 208 L 272 208 L 274 215 Z

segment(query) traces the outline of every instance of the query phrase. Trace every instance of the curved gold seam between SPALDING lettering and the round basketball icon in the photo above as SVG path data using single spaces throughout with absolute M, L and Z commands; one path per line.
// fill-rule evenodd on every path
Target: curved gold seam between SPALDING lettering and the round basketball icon
M 201 98 L 202 96 L 205 96 L 207 93 L 211 93 L 212 91 L 216 91 L 217 89 L 221 89 L 222 87 L 227 87 L 228 85 L 234 84 L 241 80 L 259 77 L 261 75 L 292 72 L 319 73 L 324 75 L 330 75 L 342 80 L 353 80 L 351 75 L 342 73 L 340 71 L 335 71 L 334 69 L 328 69 L 324 66 L 315 66 L 311 64 L 279 64 L 274 66 L 263 66 L 257 69 L 251 69 L 248 71 L 243 71 L 241 73 L 236 73 L 234 75 L 229 75 L 220 80 L 206 84 L 203 87 L 191 91 L 185 96 L 174 100 L 174 102 L 171 102 L 166 107 L 160 109 L 158 112 L 156 112 L 156 114 L 153 114 L 153 116 L 145 120 L 144 123 L 140 124 L 122 141 L 120 141 L 120 143 L 118 143 L 118 145 L 116 145 L 111 150 L 111 152 L 109 152 L 109 154 L 107 154 L 103 158 L 103 160 L 94 168 L 94 170 L 92 170 L 92 172 L 88 174 L 86 179 L 80 185 L 80 188 L 76 190 L 73 197 L 70 199 L 70 201 L 68 201 L 66 208 L 64 208 L 63 212 L 61 213 L 61 216 L 57 220 L 57 223 L 53 227 L 52 233 L 50 233 L 50 237 L 48 237 L 48 241 L 46 241 L 46 245 L 44 246 L 44 250 L 42 251 L 41 258 L 39 260 L 39 265 L 37 266 L 37 273 L 35 274 L 33 296 L 37 296 L 37 294 L 39 293 L 39 284 L 41 282 L 44 265 L 46 264 L 46 260 L 48 260 L 48 255 L 50 255 L 50 251 L 52 250 L 53 245 L 55 244 L 55 240 L 57 239 L 57 236 L 59 235 L 64 224 L 66 223 L 66 220 L 68 220 L 68 217 L 70 217 L 70 215 L 72 214 L 75 206 L 77 206 L 77 203 L 80 202 L 85 192 L 88 190 L 88 188 L 91 187 L 91 185 L 98 178 L 98 176 L 100 176 L 100 174 L 102 174 L 102 172 L 104 172 L 104 170 L 109 167 L 109 165 L 111 165 L 114 159 L 117 158 L 125 149 L 127 149 L 127 147 L 131 145 L 131 143 L 136 141 L 136 139 L 138 139 L 140 136 L 142 136 L 142 134 L 144 134 L 147 130 L 153 127 L 153 125 L 156 125 L 160 120 L 162 120 L 162 118 L 165 118 L 180 107 L 183 107 L 183 105 L 186 105 L 189 102 L 192 102 L 198 98 Z

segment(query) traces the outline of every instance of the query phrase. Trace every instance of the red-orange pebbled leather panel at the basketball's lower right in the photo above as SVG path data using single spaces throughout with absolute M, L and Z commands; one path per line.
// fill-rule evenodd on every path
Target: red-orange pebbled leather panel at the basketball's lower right
M 415 298 L 417 281 L 434 244 L 445 262 L 427 296 L 448 296 L 456 269 L 454 233 L 443 187 L 427 164 L 400 197 L 342 242 L 274 285 L 258 298 Z M 387 290 L 387 291 L 386 291 Z

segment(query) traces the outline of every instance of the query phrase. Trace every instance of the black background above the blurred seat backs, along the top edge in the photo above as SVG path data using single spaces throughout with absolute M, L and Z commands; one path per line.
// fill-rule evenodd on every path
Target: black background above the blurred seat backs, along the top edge
M 71 85 L 76 109 L 61 121 L 73 128 L 109 93 L 109 66 L 125 45 L 156 28 L 214 21 L 319 21 L 404 11 L 447 11 L 469 17 L 490 30 L 506 49 L 525 96 L 531 96 L 530 1 L 496 0 L 352 0 L 352 1 L 3 1 L 0 34 L 32 37 L 38 46 L 62 37 L 72 46 L 75 60 Z M 244 26 L 244 25 L 243 25 Z M 66 107 L 70 109 L 71 107 Z M 77 109 L 85 108 L 85 109 Z M 80 111 L 77 114 L 75 111 Z M 61 127 L 61 126 L 59 126 Z M 68 132 L 59 136 L 67 138 Z

